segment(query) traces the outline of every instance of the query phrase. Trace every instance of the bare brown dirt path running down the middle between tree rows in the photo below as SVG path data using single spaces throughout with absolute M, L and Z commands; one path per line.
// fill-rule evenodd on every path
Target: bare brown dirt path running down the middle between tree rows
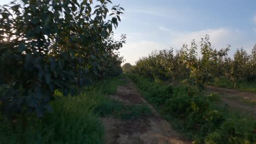
M 119 86 L 118 92 L 110 98 L 122 101 L 124 104 L 147 104 L 153 114 L 138 119 L 117 119 L 113 117 L 102 118 L 105 126 L 106 143 L 189 143 L 182 139 L 181 134 L 174 131 L 171 125 L 162 119 L 152 105 L 144 100 L 130 80 Z

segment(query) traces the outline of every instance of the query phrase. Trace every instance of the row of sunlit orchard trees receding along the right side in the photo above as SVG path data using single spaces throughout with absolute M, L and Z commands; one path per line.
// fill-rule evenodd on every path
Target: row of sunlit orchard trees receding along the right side
M 197 49 L 201 50 L 198 56 Z M 184 44 L 175 53 L 173 49 L 152 52 L 148 57 L 140 58 L 132 73 L 137 73 L 159 81 L 185 81 L 203 88 L 219 77 L 226 77 L 234 83 L 238 79 L 256 80 L 256 45 L 251 53 L 237 49 L 234 57 L 228 56 L 230 46 L 225 49 L 213 49 L 206 35 L 200 45 L 195 40 L 190 46 Z

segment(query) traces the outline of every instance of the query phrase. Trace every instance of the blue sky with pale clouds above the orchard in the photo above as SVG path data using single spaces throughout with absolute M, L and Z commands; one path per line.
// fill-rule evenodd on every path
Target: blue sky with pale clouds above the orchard
M 11 0 L 0 0 L 0 5 Z M 178 50 L 197 43 L 206 34 L 215 49 L 231 45 L 229 55 L 256 43 L 255 0 L 112 0 L 125 9 L 115 29 L 115 39 L 126 34 L 120 49 L 125 62 L 135 64 L 154 50 Z

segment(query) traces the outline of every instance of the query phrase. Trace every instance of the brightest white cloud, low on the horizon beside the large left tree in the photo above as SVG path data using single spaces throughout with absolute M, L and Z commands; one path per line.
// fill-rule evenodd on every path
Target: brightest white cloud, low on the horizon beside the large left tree
M 159 44 L 154 41 L 138 41 L 135 43 L 127 43 L 120 49 L 120 55 L 124 56 L 125 62 L 135 64 L 141 57 L 148 56 L 154 50 L 168 48 L 167 45 Z

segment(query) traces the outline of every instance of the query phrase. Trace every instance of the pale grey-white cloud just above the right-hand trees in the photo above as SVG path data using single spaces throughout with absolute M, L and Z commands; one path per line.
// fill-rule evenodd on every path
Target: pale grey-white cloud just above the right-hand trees
M 256 31 L 256 28 L 254 28 L 254 31 Z M 210 42 L 214 49 L 220 50 L 227 45 L 231 45 L 229 56 L 234 55 L 235 51 L 241 47 L 250 53 L 255 43 L 253 40 L 246 39 L 246 34 L 238 29 L 216 28 L 173 34 L 170 44 L 174 49 L 179 49 L 184 43 L 190 45 L 191 41 L 195 39 L 197 45 L 199 45 L 201 38 L 205 37 L 206 34 L 210 35 Z M 197 53 L 200 53 L 200 50 L 197 50 Z

